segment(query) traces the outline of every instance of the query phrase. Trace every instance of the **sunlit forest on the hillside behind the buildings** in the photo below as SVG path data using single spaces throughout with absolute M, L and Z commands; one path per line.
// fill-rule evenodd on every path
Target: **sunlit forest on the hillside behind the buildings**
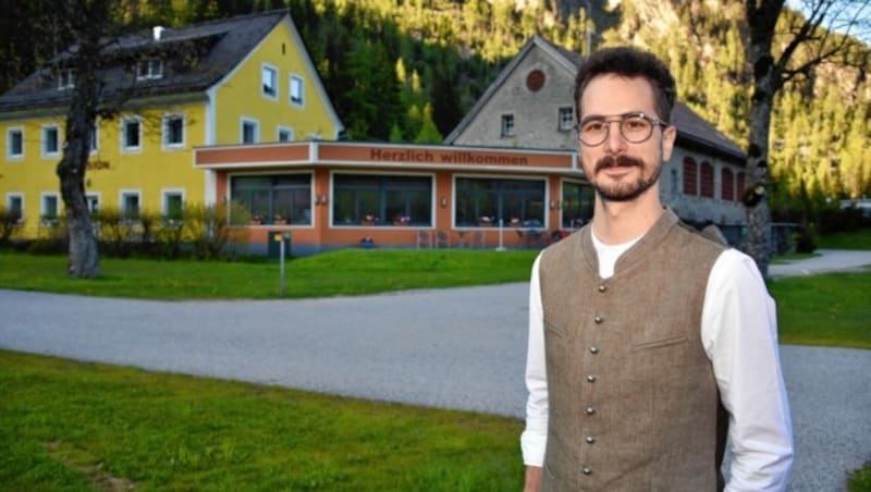
M 51 8 L 57 1 L 0 0 L 8 13 L 0 19 L 0 91 L 69 47 Z M 621 44 L 653 51 L 670 64 L 680 100 L 741 147 L 748 140 L 749 41 L 737 1 L 116 1 L 119 32 L 287 9 L 351 139 L 441 142 L 539 34 L 579 52 Z M 778 95 L 770 159 L 775 218 L 871 195 L 871 57 L 867 44 L 850 42 L 852 53 L 863 53 L 860 63 L 856 56 L 833 59 Z

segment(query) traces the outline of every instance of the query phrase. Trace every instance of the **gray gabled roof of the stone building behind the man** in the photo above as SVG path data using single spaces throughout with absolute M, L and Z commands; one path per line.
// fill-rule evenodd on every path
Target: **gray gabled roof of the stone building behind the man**
M 495 81 L 487 88 L 483 96 L 475 103 L 468 113 L 461 120 L 457 126 L 444 139 L 446 144 L 452 144 L 459 134 L 466 130 L 468 125 L 475 120 L 477 114 L 483 109 L 488 100 L 502 87 L 511 73 L 526 57 L 526 54 L 535 47 L 543 50 L 554 59 L 561 66 L 566 67 L 573 74 L 577 72 L 580 65 L 586 60 L 580 53 L 567 50 L 554 42 L 539 35 L 532 36 L 529 41 L 520 49 L 505 69 L 500 72 Z M 714 125 L 699 116 L 695 111 L 689 109 L 680 101 L 675 102 L 674 110 L 672 111 L 672 122 L 677 128 L 677 144 L 686 147 L 692 147 L 700 150 L 707 150 L 717 153 L 724 158 L 735 161 L 743 161 L 745 152 L 738 147 L 737 144 L 732 142 L 728 137 L 723 135 Z

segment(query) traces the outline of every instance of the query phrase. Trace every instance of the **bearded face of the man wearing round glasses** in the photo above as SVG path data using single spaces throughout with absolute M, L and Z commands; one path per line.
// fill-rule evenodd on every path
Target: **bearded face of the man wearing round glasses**
M 603 74 L 587 84 L 581 95 L 581 124 L 603 118 L 608 137 L 597 146 L 580 143 L 584 172 L 604 200 L 630 201 L 648 190 L 659 194 L 663 161 L 672 157 L 674 126 L 653 125 L 650 138 L 634 144 L 619 130 L 621 115 L 645 113 L 657 118 L 653 87 L 641 77 Z

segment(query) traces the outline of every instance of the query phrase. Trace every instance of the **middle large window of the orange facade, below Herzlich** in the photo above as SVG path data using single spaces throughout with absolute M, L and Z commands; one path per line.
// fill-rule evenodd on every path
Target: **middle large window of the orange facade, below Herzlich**
M 431 225 L 430 176 L 333 176 L 333 225 Z

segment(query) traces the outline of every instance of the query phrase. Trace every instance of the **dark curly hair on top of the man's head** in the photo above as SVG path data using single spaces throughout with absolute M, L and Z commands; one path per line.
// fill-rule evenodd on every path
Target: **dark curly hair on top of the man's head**
M 580 65 L 575 78 L 575 114 L 578 121 L 580 121 L 580 96 L 592 78 L 603 74 L 646 78 L 653 86 L 657 97 L 657 115 L 663 121 L 671 121 L 677 94 L 672 73 L 665 63 L 653 54 L 630 47 L 597 51 Z

